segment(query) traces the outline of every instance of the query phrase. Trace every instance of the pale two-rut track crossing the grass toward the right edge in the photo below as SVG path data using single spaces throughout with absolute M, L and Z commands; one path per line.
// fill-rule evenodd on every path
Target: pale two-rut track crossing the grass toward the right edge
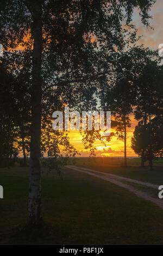
M 90 169 L 87 169 L 87 168 L 78 168 L 76 166 L 66 166 L 66 167 L 69 168 L 69 169 L 77 170 L 78 172 L 82 172 L 82 173 L 86 173 L 86 174 L 95 176 L 96 178 L 100 178 L 102 180 L 107 180 L 107 181 L 109 181 L 113 184 L 124 187 L 127 190 L 136 194 L 136 196 L 141 197 L 143 199 L 146 199 L 146 200 L 158 205 L 159 208 L 163 209 L 163 200 L 161 200 L 159 198 L 154 198 L 147 192 L 142 192 L 142 191 L 137 190 L 136 188 L 134 188 L 130 185 L 124 184 L 124 183 L 121 182 L 121 180 L 134 182 L 134 183 L 137 183 L 137 184 L 141 184 L 141 185 L 156 188 L 156 189 L 158 189 L 159 185 L 151 184 L 151 183 L 148 183 L 148 182 L 142 182 L 142 181 L 138 181 L 138 180 L 133 180 L 133 179 L 128 179 L 128 178 L 124 178 L 122 176 L 118 176 L 118 175 L 114 175 L 114 174 L 102 173 L 102 172 L 98 172 L 96 170 L 90 170 Z M 96 174 L 96 173 L 102 173 L 104 175 L 99 175 L 99 174 Z

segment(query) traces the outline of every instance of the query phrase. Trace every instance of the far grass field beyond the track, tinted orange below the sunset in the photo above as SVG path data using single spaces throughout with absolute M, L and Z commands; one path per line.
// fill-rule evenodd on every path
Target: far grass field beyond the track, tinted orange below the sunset
M 157 185 L 163 185 L 163 160 L 155 160 L 153 162 L 153 171 L 149 170 L 149 167 L 140 167 L 140 159 L 128 159 L 128 167 L 123 167 L 122 159 L 112 158 L 78 158 L 70 161 L 70 164 L 79 167 L 87 167 L 89 169 L 98 170 L 101 172 L 112 173 L 120 176 L 124 176 L 130 179 L 136 179 L 141 181 L 151 182 Z

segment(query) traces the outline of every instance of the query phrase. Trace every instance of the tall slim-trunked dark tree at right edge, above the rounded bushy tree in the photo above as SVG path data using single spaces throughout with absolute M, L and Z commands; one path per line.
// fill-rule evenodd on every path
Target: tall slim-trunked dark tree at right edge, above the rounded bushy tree
M 137 88 L 135 118 L 140 121 L 141 125 L 148 127 L 149 147 L 148 160 L 152 169 L 153 151 L 153 126 L 152 119 L 162 113 L 162 68 L 159 65 L 159 59 L 151 54 L 142 65 L 142 70 L 136 78 L 135 87 Z M 151 143 L 150 143 L 151 138 Z M 142 150 L 142 161 L 145 159 L 145 152 Z M 142 163 L 143 165 L 143 163 Z

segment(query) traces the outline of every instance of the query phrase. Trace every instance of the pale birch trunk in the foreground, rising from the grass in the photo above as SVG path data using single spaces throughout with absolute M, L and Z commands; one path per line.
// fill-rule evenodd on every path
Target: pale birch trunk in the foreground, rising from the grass
M 42 55 L 42 8 L 40 1 L 31 4 L 33 15 L 33 84 L 32 84 L 32 126 L 30 143 L 30 174 L 28 224 L 39 225 L 41 222 L 41 55 Z

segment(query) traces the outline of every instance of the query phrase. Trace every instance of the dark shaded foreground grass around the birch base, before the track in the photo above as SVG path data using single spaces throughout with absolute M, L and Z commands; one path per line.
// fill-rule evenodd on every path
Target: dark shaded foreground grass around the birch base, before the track
M 104 168 L 110 167 L 101 168 L 104 171 Z M 121 175 L 122 172 L 124 175 L 134 173 L 133 177 L 145 175 L 138 167 L 137 170 L 130 168 L 124 170 L 115 166 L 115 169 L 105 171 L 112 170 Z M 155 182 L 158 181 L 157 172 L 161 176 L 161 170 L 151 172 L 150 179 Z M 31 231 L 24 228 L 27 220 L 28 168 L 0 169 L 0 184 L 4 187 L 4 199 L 0 199 L 1 245 L 163 243 L 163 212 L 158 206 L 93 176 L 66 168 L 61 173 L 62 179 L 55 172 L 43 174 L 42 216 L 45 225 Z

